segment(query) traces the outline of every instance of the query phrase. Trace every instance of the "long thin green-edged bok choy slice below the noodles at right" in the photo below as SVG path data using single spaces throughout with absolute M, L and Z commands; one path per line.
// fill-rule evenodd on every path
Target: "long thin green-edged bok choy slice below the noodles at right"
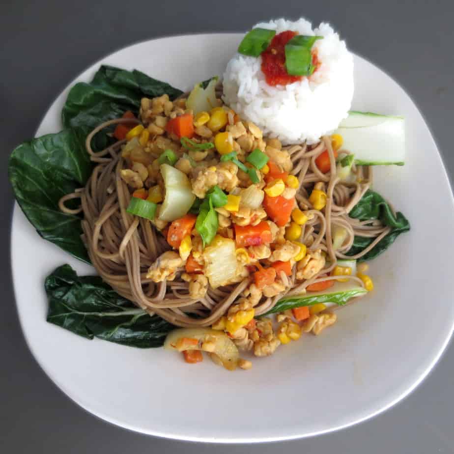
M 356 261 L 355 260 L 338 260 L 339 266 L 349 266 L 352 268 L 352 276 L 356 274 Z M 287 309 L 299 308 L 301 306 L 312 306 L 314 304 L 323 303 L 327 307 L 343 306 L 351 298 L 363 296 L 368 291 L 361 285 L 356 284 L 351 280 L 347 282 L 339 282 L 328 288 L 327 290 L 319 292 L 306 292 L 303 295 L 293 295 L 284 297 L 279 300 L 276 306 L 266 314 L 283 312 Z M 265 314 L 265 315 L 266 315 Z

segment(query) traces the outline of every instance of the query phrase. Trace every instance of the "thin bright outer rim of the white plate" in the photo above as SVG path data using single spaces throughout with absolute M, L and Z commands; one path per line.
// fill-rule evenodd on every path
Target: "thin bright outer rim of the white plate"
M 137 42 L 131 43 L 131 44 L 127 45 L 127 46 L 119 47 L 119 48 L 113 50 L 112 52 L 105 53 L 101 57 L 97 58 L 91 64 L 88 64 L 82 71 L 78 72 L 77 75 L 67 85 L 65 85 L 62 90 L 59 91 L 59 93 L 53 98 L 52 102 L 48 106 L 48 108 L 45 111 L 45 113 L 40 117 L 39 124 L 36 127 L 36 129 L 35 129 L 33 137 L 37 136 L 37 132 L 41 128 L 41 125 L 43 123 L 44 118 L 50 113 L 50 111 L 52 110 L 54 104 L 56 104 L 57 100 L 66 91 L 68 91 L 75 83 L 79 82 L 80 79 L 81 79 L 81 76 L 86 71 L 88 71 L 88 70 L 90 70 L 92 68 L 95 68 L 98 65 L 105 64 L 105 63 L 103 63 L 103 60 L 105 60 L 108 57 L 111 57 L 112 55 L 116 54 L 117 52 L 125 51 L 128 48 L 131 48 L 131 47 L 134 47 L 134 46 L 137 46 L 137 45 L 143 45 L 143 44 L 146 44 L 146 43 L 149 43 L 149 42 L 154 42 L 154 41 L 159 41 L 159 40 L 166 40 L 166 39 L 172 39 L 172 38 L 184 38 L 184 37 L 187 37 L 187 36 L 203 37 L 203 36 L 207 36 L 207 35 L 208 36 L 216 35 L 216 36 L 225 36 L 225 37 L 230 36 L 230 37 L 232 37 L 234 35 L 241 36 L 241 34 L 242 34 L 241 32 L 221 32 L 221 33 L 208 32 L 208 33 L 181 33 L 181 34 L 161 35 L 161 36 L 158 36 L 158 37 L 155 37 L 155 38 L 152 38 L 152 39 L 145 39 L 145 40 L 137 41 Z M 448 187 L 451 190 L 451 194 L 450 194 L 450 196 L 451 196 L 451 204 L 454 207 L 453 184 L 451 182 L 450 175 L 449 175 L 449 173 L 447 171 L 443 154 L 441 153 L 440 148 L 439 148 L 437 142 L 434 139 L 434 136 L 432 134 L 432 130 L 431 130 L 428 122 L 426 121 L 425 115 L 422 114 L 422 112 L 421 112 L 421 110 L 419 108 L 419 105 L 407 93 L 407 91 L 400 85 L 400 83 L 393 76 L 391 76 L 387 71 L 385 71 L 381 66 L 373 63 L 368 58 L 363 57 L 362 55 L 360 55 L 360 54 L 358 54 L 356 52 L 352 52 L 352 51 L 350 51 L 350 52 L 355 57 L 358 57 L 358 58 L 360 58 L 362 60 L 365 60 L 367 63 L 372 65 L 375 69 L 378 69 L 379 71 L 383 72 L 411 100 L 411 102 L 412 102 L 414 108 L 416 109 L 417 113 L 419 115 L 421 115 L 421 117 L 422 117 L 422 119 L 424 121 L 424 124 L 425 124 L 425 126 L 426 126 L 426 128 L 428 130 L 429 138 L 433 142 L 433 145 L 434 145 L 435 149 L 438 152 L 438 158 L 440 159 L 440 162 L 441 162 L 441 165 L 442 165 L 444 178 L 446 179 Z M 60 119 L 60 125 L 61 125 L 61 119 Z M 454 182 L 454 177 L 453 177 L 453 182 Z M 74 397 L 72 395 L 72 392 L 63 383 L 61 383 L 57 378 L 53 377 L 51 372 L 48 371 L 40 363 L 40 361 L 38 360 L 38 356 L 39 355 L 35 354 L 34 347 L 28 341 L 28 337 L 26 335 L 26 330 L 24 329 L 23 320 L 22 320 L 22 317 L 19 314 L 18 303 L 17 303 L 17 295 L 16 295 L 16 293 L 17 293 L 16 292 L 17 283 L 16 283 L 16 279 L 15 279 L 14 266 L 13 266 L 14 257 L 13 257 L 13 247 L 12 247 L 13 242 L 12 242 L 12 240 L 13 240 L 13 225 L 14 225 L 14 221 L 15 221 L 15 218 L 17 216 L 17 211 L 18 210 L 20 210 L 20 206 L 19 206 L 18 202 L 16 200 L 14 200 L 14 205 L 13 205 L 13 210 L 12 210 L 12 215 L 11 215 L 11 220 L 10 220 L 10 238 L 9 238 L 10 239 L 10 241 L 9 241 L 9 246 L 10 246 L 10 257 L 9 257 L 10 258 L 10 273 L 11 273 L 11 281 L 12 281 L 12 284 L 13 284 L 12 287 L 13 287 L 14 301 L 15 301 L 15 304 L 16 304 L 16 310 L 18 312 L 18 319 L 19 319 L 19 324 L 20 324 L 21 331 L 22 331 L 22 336 L 23 336 L 23 338 L 26 341 L 26 344 L 27 344 L 28 349 L 30 350 L 32 356 L 33 356 L 34 361 L 37 363 L 39 368 L 45 373 L 45 375 L 57 386 L 57 388 L 59 388 L 59 390 L 61 392 L 63 392 L 66 397 L 68 397 L 71 401 L 76 403 L 79 407 L 82 407 L 85 411 L 89 412 L 91 415 L 93 415 L 93 416 L 95 416 L 95 417 L 97 417 L 97 418 L 99 418 L 99 419 L 101 419 L 103 421 L 106 421 L 106 422 L 108 422 L 108 423 L 110 423 L 110 424 L 112 424 L 114 426 L 119 426 L 119 427 L 125 428 L 127 430 L 131 430 L 133 432 L 142 433 L 142 434 L 146 434 L 146 435 L 152 435 L 152 436 L 165 438 L 165 439 L 170 439 L 170 440 L 191 441 L 191 442 L 200 442 L 200 443 L 222 443 L 222 444 L 232 444 L 232 443 L 243 443 L 243 444 L 253 444 L 254 443 L 254 444 L 256 444 L 256 443 L 278 442 L 278 441 L 309 438 L 309 437 L 313 437 L 313 436 L 318 436 L 318 435 L 323 435 L 323 434 L 327 434 L 327 433 L 337 432 L 339 430 L 342 430 L 342 429 L 345 429 L 345 428 L 348 428 L 348 427 L 351 427 L 351 426 L 355 426 L 357 424 L 360 424 L 360 423 L 363 423 L 365 421 L 368 421 L 368 420 L 378 416 L 379 414 L 389 410 L 390 408 L 395 406 L 398 402 L 400 402 L 404 398 L 408 397 L 426 379 L 426 377 L 429 375 L 429 373 L 434 369 L 434 367 L 440 361 L 440 359 L 443 356 L 443 354 L 446 352 L 448 344 L 453 339 L 454 319 L 452 321 L 452 326 L 451 326 L 451 328 L 449 330 L 449 334 L 446 337 L 446 339 L 443 341 L 441 347 L 439 348 L 439 351 L 437 352 L 436 355 L 434 355 L 434 357 L 430 361 L 429 365 L 426 367 L 425 370 L 423 370 L 420 373 L 420 376 L 418 377 L 418 379 L 415 380 L 415 382 L 411 386 L 409 386 L 405 391 L 401 392 L 400 395 L 398 395 L 394 399 L 390 400 L 387 404 L 382 405 L 380 408 L 378 408 L 376 411 L 370 413 L 369 415 L 364 416 L 364 417 L 360 417 L 360 418 L 358 418 L 358 419 L 356 419 L 354 421 L 351 421 L 351 422 L 348 422 L 348 423 L 344 423 L 344 424 L 341 424 L 341 425 L 338 425 L 338 426 L 333 426 L 331 428 L 322 429 L 322 430 L 318 430 L 318 431 L 312 431 L 312 432 L 303 433 L 303 434 L 300 433 L 300 434 L 294 434 L 294 435 L 268 436 L 268 437 L 259 436 L 259 437 L 251 437 L 251 438 L 244 438 L 244 437 L 223 438 L 223 437 L 216 437 L 216 436 L 214 436 L 214 437 L 213 436 L 212 437 L 210 437 L 210 436 L 207 436 L 207 437 L 187 436 L 185 434 L 180 434 L 180 433 L 177 433 L 175 431 L 172 432 L 170 430 L 169 431 L 147 430 L 147 429 L 143 430 L 143 428 L 134 427 L 133 425 L 127 424 L 127 423 L 124 423 L 124 422 L 119 422 L 114 417 L 111 417 L 111 416 L 108 416 L 108 415 L 104 415 L 104 414 L 102 414 L 102 412 L 90 408 L 90 405 L 88 403 L 85 404 L 84 402 L 82 402 L 82 401 L 78 400 L 76 397 Z M 27 220 L 27 222 L 28 222 L 28 220 Z M 45 241 L 45 240 L 42 239 L 42 241 Z

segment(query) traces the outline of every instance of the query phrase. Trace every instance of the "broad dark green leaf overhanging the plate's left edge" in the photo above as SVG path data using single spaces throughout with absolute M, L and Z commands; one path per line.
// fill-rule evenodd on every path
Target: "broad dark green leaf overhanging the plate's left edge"
M 44 239 L 89 263 L 79 216 L 62 213 L 58 200 L 84 186 L 92 165 L 85 150 L 85 128 L 64 129 L 19 145 L 8 163 L 14 196 Z M 71 208 L 74 203 L 67 203 Z

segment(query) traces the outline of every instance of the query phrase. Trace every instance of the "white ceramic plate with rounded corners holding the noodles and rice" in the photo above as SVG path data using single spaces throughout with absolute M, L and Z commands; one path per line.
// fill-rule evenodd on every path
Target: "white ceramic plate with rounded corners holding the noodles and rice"
M 90 80 L 101 63 L 137 68 L 188 89 L 222 74 L 240 38 L 177 36 L 115 52 L 71 82 L 37 135 L 60 130 L 69 87 Z M 404 212 L 412 230 L 372 262 L 375 290 L 338 312 L 336 325 L 256 359 L 247 372 L 227 372 L 209 360 L 188 366 L 161 348 L 88 341 L 47 323 L 44 278 L 63 263 L 79 273 L 93 269 L 41 240 L 16 204 L 11 234 L 16 302 L 28 345 L 51 379 L 86 410 L 119 426 L 226 443 L 337 430 L 376 415 L 412 391 L 453 331 L 453 196 L 416 106 L 396 82 L 360 57 L 355 57 L 353 108 L 405 115 L 406 165 L 378 168 L 375 188 Z

